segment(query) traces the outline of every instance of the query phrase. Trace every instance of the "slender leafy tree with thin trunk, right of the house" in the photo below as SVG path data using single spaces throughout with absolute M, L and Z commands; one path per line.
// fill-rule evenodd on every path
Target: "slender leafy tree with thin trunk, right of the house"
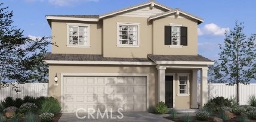
M 220 72 L 215 72 L 222 83 L 236 85 L 236 104 L 239 105 L 239 84 L 248 85 L 255 79 L 255 34 L 246 37 L 243 23 L 238 23 L 233 30 L 226 32 L 224 45 L 220 45 Z

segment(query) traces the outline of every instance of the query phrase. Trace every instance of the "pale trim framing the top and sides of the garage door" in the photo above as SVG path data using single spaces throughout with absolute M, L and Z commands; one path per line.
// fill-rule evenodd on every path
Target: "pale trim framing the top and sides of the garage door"
M 61 111 L 63 111 L 63 81 L 65 76 L 137 76 L 137 77 L 146 77 L 146 107 L 149 109 L 149 74 L 147 73 L 60 73 L 60 84 L 61 84 L 61 89 L 60 89 L 60 101 L 61 101 Z M 147 110 L 146 109 L 146 110 Z

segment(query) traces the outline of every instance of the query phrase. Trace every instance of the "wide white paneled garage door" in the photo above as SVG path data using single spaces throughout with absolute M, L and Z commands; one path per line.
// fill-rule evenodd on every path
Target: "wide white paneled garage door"
M 146 77 L 64 77 L 63 111 L 146 111 Z

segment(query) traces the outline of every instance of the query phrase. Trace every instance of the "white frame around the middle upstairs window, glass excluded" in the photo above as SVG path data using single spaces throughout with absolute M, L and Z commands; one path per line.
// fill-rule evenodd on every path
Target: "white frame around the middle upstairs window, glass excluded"
M 117 26 L 116 26 L 116 35 L 117 35 L 117 40 L 116 40 L 116 46 L 118 47 L 128 47 L 128 48 L 138 48 L 140 47 L 140 23 L 120 23 L 120 22 L 117 22 L 116 23 Z M 119 29 L 120 27 L 119 26 L 138 26 L 138 37 L 137 37 L 137 45 L 122 45 L 120 44 L 120 36 L 119 36 Z

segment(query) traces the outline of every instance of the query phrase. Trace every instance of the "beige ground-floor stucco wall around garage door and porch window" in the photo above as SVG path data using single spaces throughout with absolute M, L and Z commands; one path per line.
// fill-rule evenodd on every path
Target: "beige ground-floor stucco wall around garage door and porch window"
M 54 77 L 57 73 L 58 86 L 54 86 Z M 158 70 L 154 66 L 132 66 L 132 65 L 50 65 L 49 67 L 49 95 L 61 99 L 61 76 L 60 73 L 147 73 L 149 74 L 149 106 L 155 106 L 158 103 Z M 166 73 L 191 73 L 190 70 L 166 70 Z M 190 74 L 190 81 L 191 74 Z M 190 96 L 177 96 L 177 74 L 175 74 L 175 108 L 189 108 Z M 191 82 L 190 82 L 191 92 Z M 191 93 L 190 93 L 191 94 Z

